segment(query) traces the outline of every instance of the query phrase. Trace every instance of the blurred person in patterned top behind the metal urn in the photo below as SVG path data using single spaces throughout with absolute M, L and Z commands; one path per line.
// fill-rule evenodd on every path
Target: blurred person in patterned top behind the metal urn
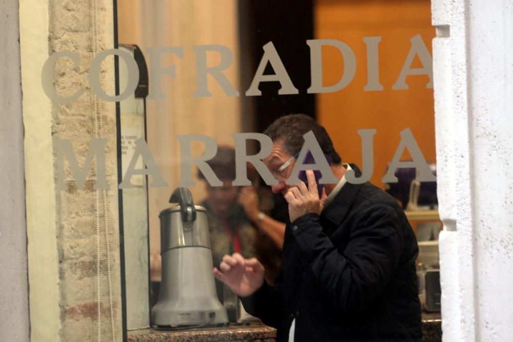
M 223 186 L 213 187 L 206 182 L 203 173 L 198 172 L 198 177 L 205 180 L 207 188 L 207 197 L 200 205 L 205 207 L 208 215 L 214 265 L 219 265 L 225 254 L 258 256 L 267 266 L 266 279 L 272 283 L 278 270 L 285 224 L 260 211 L 253 186 L 232 186 L 235 179 L 233 148 L 220 146 L 216 155 L 206 163 L 223 182 Z M 248 165 L 248 178 L 252 183 L 257 179 L 252 165 Z M 216 281 L 216 291 L 223 303 L 226 289 L 220 281 Z

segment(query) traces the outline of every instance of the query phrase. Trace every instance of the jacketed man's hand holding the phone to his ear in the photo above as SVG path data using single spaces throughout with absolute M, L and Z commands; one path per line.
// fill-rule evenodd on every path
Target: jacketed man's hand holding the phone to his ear
M 294 222 L 305 214 L 320 214 L 328 198 L 324 188 L 321 198 L 319 198 L 319 191 L 317 190 L 313 171 L 307 170 L 306 178 L 308 180 L 308 187 L 304 182 L 301 182 L 297 187 L 288 189 L 284 196 L 289 205 L 290 222 Z

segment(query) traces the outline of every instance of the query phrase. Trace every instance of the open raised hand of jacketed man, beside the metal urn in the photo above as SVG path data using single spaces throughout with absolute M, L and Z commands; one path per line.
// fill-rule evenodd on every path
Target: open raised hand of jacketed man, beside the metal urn
M 219 268 L 214 267 L 214 276 L 241 297 L 253 294 L 264 284 L 265 269 L 257 258 L 245 259 L 239 253 L 225 255 Z

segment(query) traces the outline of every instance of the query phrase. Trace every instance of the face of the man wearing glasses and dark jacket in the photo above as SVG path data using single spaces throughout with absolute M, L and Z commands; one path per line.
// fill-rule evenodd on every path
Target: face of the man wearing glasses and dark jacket
M 276 140 L 272 144 L 272 151 L 264 159 L 264 163 L 271 171 L 274 178 L 278 180 L 277 185 L 272 185 L 271 190 L 273 193 L 281 192 L 283 195 L 287 192 L 288 189 L 294 187 L 295 185 L 285 184 L 285 180 L 290 177 L 292 169 L 294 168 L 295 159 L 281 172 L 279 171 L 280 167 L 282 167 L 287 161 L 293 156 L 285 150 L 281 140 Z

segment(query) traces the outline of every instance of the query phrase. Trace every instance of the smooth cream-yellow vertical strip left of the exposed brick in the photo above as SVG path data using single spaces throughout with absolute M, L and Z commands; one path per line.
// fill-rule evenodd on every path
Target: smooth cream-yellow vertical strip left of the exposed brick
M 48 0 L 19 4 L 28 239 L 30 337 L 59 341 L 61 331 L 52 147 L 52 103 L 41 72 L 49 56 Z

